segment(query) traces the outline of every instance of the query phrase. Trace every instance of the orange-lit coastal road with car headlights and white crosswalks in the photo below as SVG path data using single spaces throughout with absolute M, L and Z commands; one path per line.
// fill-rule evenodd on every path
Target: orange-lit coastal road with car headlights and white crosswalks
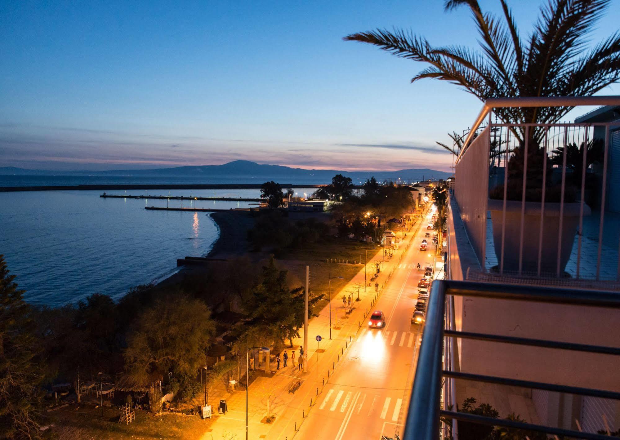
M 430 220 L 428 214 L 428 219 Z M 362 328 L 347 358 L 335 371 L 295 440 L 380 439 L 402 435 L 423 328 L 411 323 L 424 266 L 433 262 L 435 246 L 420 250 L 426 232 L 423 219 L 396 272 L 374 310 L 382 310 L 383 329 Z

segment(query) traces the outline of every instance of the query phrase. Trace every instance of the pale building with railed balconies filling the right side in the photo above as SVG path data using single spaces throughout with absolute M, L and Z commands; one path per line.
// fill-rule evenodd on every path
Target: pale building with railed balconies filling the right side
M 570 143 L 602 133 L 600 161 L 611 165 L 620 120 L 491 123 L 497 107 L 560 105 L 618 108 L 620 97 L 489 100 L 455 161 L 447 268 L 428 301 L 405 439 L 435 439 L 438 429 L 458 439 L 467 422 L 590 439 L 620 428 L 619 218 L 606 203 L 614 174 L 587 161 L 571 173 L 565 157 Z M 515 149 L 521 163 L 510 161 Z M 494 164 L 508 173 L 489 179 Z M 596 192 L 603 209 L 588 206 Z M 463 412 L 472 397 L 498 418 Z

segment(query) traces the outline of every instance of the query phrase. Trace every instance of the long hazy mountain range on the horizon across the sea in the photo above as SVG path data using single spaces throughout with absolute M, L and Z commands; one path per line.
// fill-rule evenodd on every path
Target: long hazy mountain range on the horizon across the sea
M 197 167 L 156 168 L 151 170 L 109 170 L 109 171 L 70 171 L 28 170 L 16 167 L 0 167 L 0 175 L 92 175 L 125 177 L 244 177 L 264 178 L 265 180 L 288 179 L 304 180 L 307 183 L 328 183 L 336 174 L 343 174 L 358 183 L 373 177 L 377 180 L 401 180 L 406 182 L 422 178 L 447 178 L 449 173 L 431 169 L 405 169 L 397 171 L 342 171 L 342 170 L 308 170 L 303 168 L 283 167 L 281 165 L 262 165 L 250 161 L 233 161 L 223 165 L 200 165 Z

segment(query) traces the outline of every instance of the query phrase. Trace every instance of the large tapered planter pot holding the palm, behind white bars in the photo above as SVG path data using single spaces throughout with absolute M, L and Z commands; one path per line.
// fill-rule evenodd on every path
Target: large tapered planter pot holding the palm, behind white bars
M 566 263 L 575 241 L 575 232 L 579 226 L 580 203 L 564 203 L 562 215 L 562 234 L 558 241 L 560 225 L 560 204 L 545 203 L 542 225 L 541 274 L 555 275 L 557 270 L 557 249 L 560 249 L 560 274 L 564 273 Z M 493 222 L 493 240 L 498 268 L 502 257 L 502 209 L 503 200 L 489 200 L 489 211 Z M 583 215 L 591 213 L 588 205 L 583 205 Z M 537 273 L 538 245 L 541 222 L 541 203 L 525 203 L 525 222 L 523 224 L 523 272 Z M 506 201 L 506 222 L 504 233 L 503 270 L 519 270 L 519 247 L 521 239 L 521 202 Z

